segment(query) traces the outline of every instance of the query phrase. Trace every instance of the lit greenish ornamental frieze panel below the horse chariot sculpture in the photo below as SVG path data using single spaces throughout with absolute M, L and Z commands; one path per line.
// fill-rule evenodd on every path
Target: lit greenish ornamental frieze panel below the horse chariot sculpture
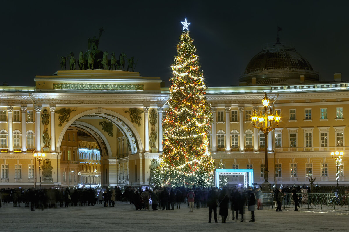
M 144 90 L 143 84 L 53 83 L 53 89 Z

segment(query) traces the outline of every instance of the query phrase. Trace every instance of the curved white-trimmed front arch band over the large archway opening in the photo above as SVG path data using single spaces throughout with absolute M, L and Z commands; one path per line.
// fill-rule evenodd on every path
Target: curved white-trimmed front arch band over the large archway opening
M 116 124 L 120 129 L 122 129 L 124 131 L 124 134 L 126 135 L 128 141 L 131 144 L 132 154 L 137 153 L 137 149 L 139 149 L 139 152 L 143 152 L 143 144 L 142 144 L 141 137 L 139 136 L 136 128 L 132 125 L 132 123 L 127 118 L 122 116 L 121 114 L 114 112 L 114 111 L 111 111 L 111 110 L 105 110 L 105 109 L 87 110 L 87 111 L 84 111 L 84 112 L 81 112 L 81 113 L 75 115 L 72 119 L 70 119 L 66 123 L 66 125 L 62 128 L 62 131 L 58 137 L 57 149 L 60 149 L 63 135 L 64 135 L 65 131 L 67 131 L 69 126 L 72 125 L 77 119 L 79 119 L 85 115 L 102 116 L 101 114 L 103 114 L 103 117 L 109 119 L 111 122 Z M 135 136 L 135 138 L 133 137 L 133 135 Z M 138 148 L 136 146 L 136 141 L 137 141 L 138 146 L 139 146 Z

